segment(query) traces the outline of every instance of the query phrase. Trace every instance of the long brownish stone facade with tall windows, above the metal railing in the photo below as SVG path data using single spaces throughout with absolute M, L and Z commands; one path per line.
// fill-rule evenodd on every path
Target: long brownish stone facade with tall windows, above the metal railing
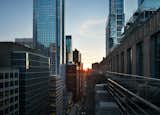
M 125 32 L 121 44 L 103 62 L 100 69 L 118 73 L 160 78 L 160 11 Z

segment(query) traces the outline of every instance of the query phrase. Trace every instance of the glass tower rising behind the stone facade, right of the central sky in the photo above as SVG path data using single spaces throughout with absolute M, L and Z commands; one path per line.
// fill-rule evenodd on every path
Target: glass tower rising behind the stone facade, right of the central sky
M 124 0 L 109 0 L 109 16 L 106 25 L 106 56 L 120 43 L 124 21 Z

